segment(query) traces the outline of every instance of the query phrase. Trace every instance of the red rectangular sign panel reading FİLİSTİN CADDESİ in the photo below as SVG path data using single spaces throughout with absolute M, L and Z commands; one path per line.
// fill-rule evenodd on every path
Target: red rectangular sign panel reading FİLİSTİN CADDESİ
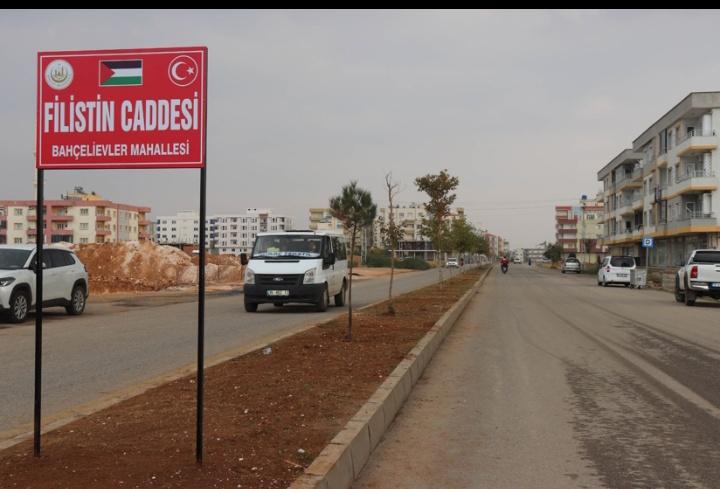
M 207 47 L 38 53 L 37 168 L 203 168 Z

